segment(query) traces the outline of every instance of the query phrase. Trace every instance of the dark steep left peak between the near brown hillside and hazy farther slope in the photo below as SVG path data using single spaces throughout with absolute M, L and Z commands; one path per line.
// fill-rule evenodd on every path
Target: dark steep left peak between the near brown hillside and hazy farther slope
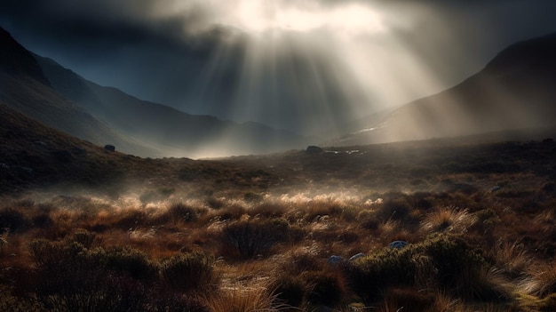
M 62 132 L 98 145 L 114 144 L 123 150 L 155 153 L 114 132 L 107 124 L 52 89 L 35 57 L 0 28 L 0 100 L 26 116 Z

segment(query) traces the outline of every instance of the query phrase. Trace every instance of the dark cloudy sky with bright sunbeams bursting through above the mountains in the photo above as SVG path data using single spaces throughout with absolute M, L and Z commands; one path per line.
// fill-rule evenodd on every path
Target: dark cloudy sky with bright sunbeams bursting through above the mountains
M 101 85 L 303 134 L 441 92 L 556 31 L 548 0 L 18 0 L 0 27 Z

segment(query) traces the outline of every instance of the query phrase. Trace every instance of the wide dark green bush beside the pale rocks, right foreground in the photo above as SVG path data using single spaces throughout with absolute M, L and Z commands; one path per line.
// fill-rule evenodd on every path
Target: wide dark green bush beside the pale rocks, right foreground
M 488 281 L 488 263 L 464 240 L 437 235 L 401 250 L 383 249 L 347 267 L 353 291 L 377 300 L 391 287 L 436 287 L 473 300 L 503 300 Z

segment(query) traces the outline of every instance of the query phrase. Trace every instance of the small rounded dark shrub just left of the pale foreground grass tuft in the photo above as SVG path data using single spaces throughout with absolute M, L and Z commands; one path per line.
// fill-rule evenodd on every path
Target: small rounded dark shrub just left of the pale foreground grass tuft
M 201 252 L 181 253 L 163 261 L 161 275 L 166 284 L 179 291 L 203 291 L 218 282 L 213 259 Z

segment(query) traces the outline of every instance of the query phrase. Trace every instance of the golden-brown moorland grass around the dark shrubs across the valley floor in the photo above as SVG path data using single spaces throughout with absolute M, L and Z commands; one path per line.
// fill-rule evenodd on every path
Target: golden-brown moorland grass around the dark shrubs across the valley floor
M 24 273 L 36 269 L 29 257 L 28 244 L 36 238 L 66 242 L 83 228 L 95 235 L 91 249 L 129 247 L 144 252 L 155 264 L 186 252 L 203 252 L 214 257 L 214 270 L 221 277 L 218 290 L 203 298 L 204 304 L 214 311 L 293 310 L 281 305 L 272 290 L 267 289 L 268 285 L 279 276 L 291 276 L 308 283 L 305 286 L 310 290 L 316 287 L 316 282 L 325 280 L 322 276 L 327 276 L 326 272 L 333 272 L 343 289 L 343 297 L 335 307 L 338 311 L 349 310 L 350 302 L 361 302 L 358 305 L 361 311 L 373 307 L 371 310 L 401 312 L 418 304 L 421 305 L 418 310 L 425 312 L 528 312 L 549 311 L 553 307 L 556 266 L 548 260 L 556 253 L 553 229 L 556 213 L 552 207 L 556 195 L 551 188 L 544 189 L 551 179 L 547 173 L 537 174 L 535 168 L 528 172 L 525 169 L 454 172 L 448 165 L 429 166 L 425 158 L 416 159 L 419 164 L 407 163 L 400 150 L 383 148 L 382 151 L 371 148 L 365 154 L 369 158 L 360 157 L 344 164 L 350 167 L 350 174 L 361 172 L 361 177 L 354 175 L 353 180 L 336 177 L 338 186 L 325 185 L 327 180 L 315 180 L 316 173 L 307 169 L 285 173 L 290 172 L 294 163 L 304 167 L 299 164 L 299 156 L 256 160 L 257 165 L 270 172 L 270 179 L 276 183 L 272 188 L 249 185 L 246 178 L 239 182 L 228 179 L 228 175 L 237 172 L 250 172 L 238 164 L 254 165 L 251 158 L 240 157 L 201 162 L 203 170 L 211 173 L 205 177 L 205 172 L 195 181 L 176 182 L 175 175 L 179 173 L 161 169 L 175 185 L 149 180 L 152 187 L 139 185 L 139 191 L 122 192 L 115 197 L 51 193 L 28 197 L 33 200 L 23 196 L 4 201 L 0 211 L 11 216 L 12 209 L 17 212 L 13 215 L 18 217 L 19 213 L 23 221 L 18 230 L 2 231 L 0 286 L 15 284 L 13 289 L 17 293 L 32 296 L 32 275 Z M 398 154 L 391 157 L 386 151 Z M 552 152 L 546 149 L 544 153 Z M 453 156 L 447 155 L 439 157 Z M 472 159 L 465 164 L 481 159 L 473 158 L 473 154 L 466 157 Z M 326 162 L 333 161 L 307 159 L 303 161 L 317 162 L 314 170 L 322 172 L 327 170 Z M 382 159 L 382 163 L 377 159 Z M 550 164 L 551 159 L 544 161 Z M 149 162 L 149 166 L 155 166 L 157 161 Z M 173 169 L 183 166 L 180 160 L 166 162 Z M 527 168 L 528 164 L 535 162 L 520 165 Z M 195 169 L 195 165 L 187 164 L 190 169 Z M 418 172 L 428 176 L 420 177 Z M 410 183 L 417 179 L 426 183 Z M 377 181 L 387 184 L 377 186 Z M 503 192 L 490 190 L 496 185 Z M 151 189 L 155 193 L 161 189 L 172 192 L 168 191 L 164 200 L 147 201 L 144 195 Z M 288 230 L 289 236 L 264 252 L 243 259 L 235 255 L 234 246 L 226 246 L 222 235 L 226 227 L 239 222 L 279 224 Z M 429 263 L 430 259 L 426 262 L 426 256 L 409 259 L 407 263 L 418 267 L 415 282 L 395 285 L 399 289 L 387 289 L 369 297 L 370 300 L 355 293 L 347 280 L 346 272 L 352 262 L 345 260 L 338 265 L 327 262 L 331 255 L 345 259 L 358 252 L 372 255 L 393 240 L 420 244 L 437 233 L 465 241 L 473 254 L 484 258 L 484 268 L 456 270 L 460 276 L 450 284 L 453 289 L 443 289 L 435 276 L 438 268 L 434 266 L 438 264 Z M 10 300 L 20 299 L 11 296 Z M 299 307 L 322 308 L 306 299 Z

